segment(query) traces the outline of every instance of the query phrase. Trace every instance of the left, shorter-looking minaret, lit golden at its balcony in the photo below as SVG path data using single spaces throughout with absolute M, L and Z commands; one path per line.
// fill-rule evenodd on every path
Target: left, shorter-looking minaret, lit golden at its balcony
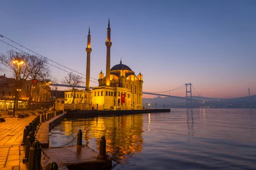
M 90 90 L 90 53 L 92 52 L 92 48 L 90 48 L 90 27 L 89 33 L 87 36 L 87 60 L 86 60 L 86 82 L 85 82 L 85 90 Z

